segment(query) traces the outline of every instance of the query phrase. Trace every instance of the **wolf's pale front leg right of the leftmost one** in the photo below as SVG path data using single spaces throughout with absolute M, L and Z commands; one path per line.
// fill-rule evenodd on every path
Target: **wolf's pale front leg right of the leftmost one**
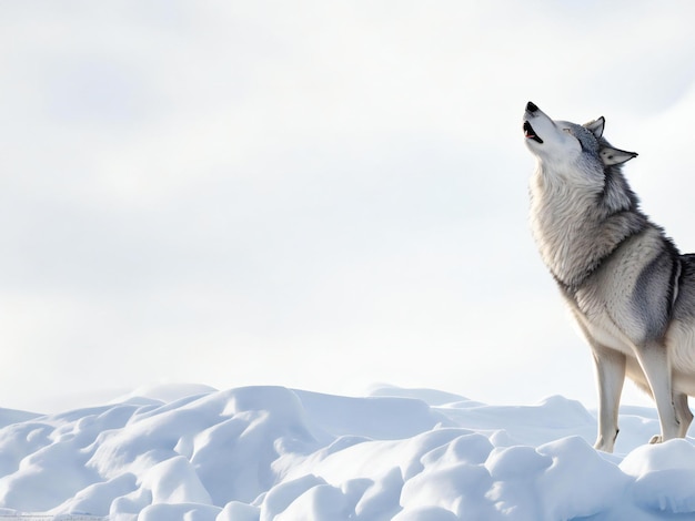
M 674 403 L 668 351 L 658 344 L 647 344 L 637 349 L 637 359 L 647 377 L 662 426 L 661 437 L 655 436 L 649 442 L 668 441 L 681 437 L 682 429 Z

